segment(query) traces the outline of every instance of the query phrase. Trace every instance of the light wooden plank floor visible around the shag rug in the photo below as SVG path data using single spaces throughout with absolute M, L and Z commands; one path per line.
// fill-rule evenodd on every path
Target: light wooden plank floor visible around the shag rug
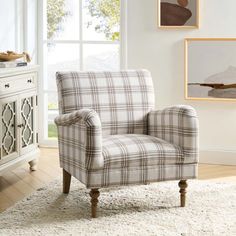
M 30 172 L 25 164 L 0 176 L 0 212 L 61 175 L 57 149 L 41 149 L 38 170 Z M 234 181 L 236 166 L 199 166 L 199 179 Z

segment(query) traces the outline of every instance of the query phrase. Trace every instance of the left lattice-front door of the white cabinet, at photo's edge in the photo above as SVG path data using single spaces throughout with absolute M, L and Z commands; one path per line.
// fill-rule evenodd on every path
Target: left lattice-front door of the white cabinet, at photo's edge
M 16 143 L 16 102 L 8 102 L 1 106 L 1 159 L 17 151 Z

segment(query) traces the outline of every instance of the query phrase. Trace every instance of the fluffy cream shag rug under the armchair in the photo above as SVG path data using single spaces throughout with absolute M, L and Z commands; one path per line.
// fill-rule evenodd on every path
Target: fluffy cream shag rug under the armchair
M 189 181 L 185 208 L 177 184 L 102 189 L 91 219 L 89 191 L 57 180 L 3 212 L 0 235 L 236 235 L 236 184 Z

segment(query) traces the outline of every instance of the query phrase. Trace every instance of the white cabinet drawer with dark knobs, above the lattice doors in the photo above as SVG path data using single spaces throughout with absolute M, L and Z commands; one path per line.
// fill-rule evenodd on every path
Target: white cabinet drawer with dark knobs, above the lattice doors
M 0 78 L 0 95 L 35 88 L 36 82 L 34 73 Z

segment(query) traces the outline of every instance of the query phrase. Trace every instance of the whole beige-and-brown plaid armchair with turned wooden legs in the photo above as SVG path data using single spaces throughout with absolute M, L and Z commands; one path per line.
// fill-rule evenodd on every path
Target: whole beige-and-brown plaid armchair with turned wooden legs
M 63 192 L 71 175 L 90 191 L 96 217 L 99 188 L 196 178 L 198 119 L 190 106 L 154 110 L 148 71 L 58 72 L 58 128 Z

